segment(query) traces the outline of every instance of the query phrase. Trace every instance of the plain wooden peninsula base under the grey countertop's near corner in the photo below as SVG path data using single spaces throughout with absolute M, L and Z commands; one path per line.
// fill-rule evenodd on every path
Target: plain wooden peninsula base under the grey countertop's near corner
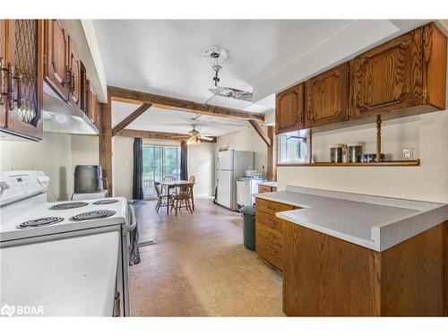
M 448 222 L 376 252 L 284 221 L 283 312 L 448 315 Z

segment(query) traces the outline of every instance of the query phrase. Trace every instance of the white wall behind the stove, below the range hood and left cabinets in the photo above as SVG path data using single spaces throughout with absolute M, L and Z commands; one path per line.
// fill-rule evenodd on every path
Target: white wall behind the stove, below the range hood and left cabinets
M 50 177 L 47 200 L 65 201 L 73 194 L 77 164 L 98 164 L 97 136 L 44 133 L 40 142 L 0 142 L 2 170 L 42 170 Z

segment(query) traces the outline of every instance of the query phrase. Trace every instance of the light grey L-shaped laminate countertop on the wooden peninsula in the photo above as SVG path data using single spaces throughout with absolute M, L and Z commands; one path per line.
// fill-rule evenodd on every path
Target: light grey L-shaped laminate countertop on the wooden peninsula
M 303 209 L 277 217 L 332 237 L 383 251 L 448 220 L 448 204 L 287 186 L 255 197 Z

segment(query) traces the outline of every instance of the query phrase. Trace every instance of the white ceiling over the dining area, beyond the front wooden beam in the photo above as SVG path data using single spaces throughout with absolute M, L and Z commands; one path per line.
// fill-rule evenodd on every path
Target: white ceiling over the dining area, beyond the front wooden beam
M 118 124 L 138 107 L 139 105 L 136 104 L 113 101 L 112 126 Z M 198 115 L 163 108 L 149 108 L 126 129 L 187 134 L 195 125 L 196 130 L 202 135 L 220 136 L 249 125 L 246 120 L 218 116 L 201 115 L 196 120 L 192 120 L 191 118 L 195 116 Z

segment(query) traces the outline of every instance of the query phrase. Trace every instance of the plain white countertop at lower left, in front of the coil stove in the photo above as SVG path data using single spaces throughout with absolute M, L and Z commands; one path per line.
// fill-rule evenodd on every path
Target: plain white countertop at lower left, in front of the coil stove
M 119 238 L 113 231 L 0 249 L 0 306 L 112 316 Z

